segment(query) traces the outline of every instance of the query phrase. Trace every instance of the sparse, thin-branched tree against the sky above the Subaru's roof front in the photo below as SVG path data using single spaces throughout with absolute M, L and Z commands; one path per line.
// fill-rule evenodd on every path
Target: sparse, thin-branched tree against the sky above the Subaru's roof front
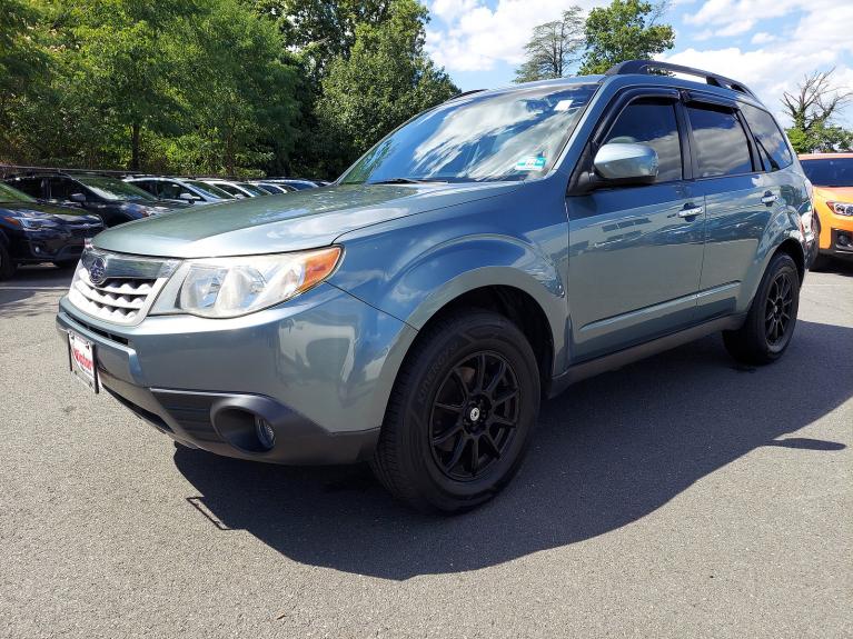
M 563 11 L 561 20 L 535 27 L 524 46 L 525 61 L 515 72 L 516 82 L 563 78 L 581 60 L 584 19 L 581 7 Z

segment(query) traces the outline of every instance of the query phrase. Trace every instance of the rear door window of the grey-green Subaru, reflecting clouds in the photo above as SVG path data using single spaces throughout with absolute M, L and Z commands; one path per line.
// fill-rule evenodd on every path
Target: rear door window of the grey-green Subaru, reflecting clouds
M 752 154 L 746 133 L 725 107 L 687 107 L 687 118 L 696 142 L 698 178 L 751 173 Z

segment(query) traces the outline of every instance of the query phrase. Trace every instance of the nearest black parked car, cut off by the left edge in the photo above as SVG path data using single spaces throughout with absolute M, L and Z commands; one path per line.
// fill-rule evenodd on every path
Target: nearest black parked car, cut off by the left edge
M 0 279 L 11 277 L 18 264 L 71 267 L 80 259 L 85 241 L 102 230 L 98 216 L 39 203 L 0 183 Z

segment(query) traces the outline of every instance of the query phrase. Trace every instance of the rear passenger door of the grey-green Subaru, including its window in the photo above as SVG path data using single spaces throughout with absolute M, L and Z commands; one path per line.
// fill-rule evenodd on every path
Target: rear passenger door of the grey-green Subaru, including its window
M 685 106 L 696 188 L 705 197 L 697 319 L 735 312 L 781 188 L 767 178 L 734 101 L 691 94 Z

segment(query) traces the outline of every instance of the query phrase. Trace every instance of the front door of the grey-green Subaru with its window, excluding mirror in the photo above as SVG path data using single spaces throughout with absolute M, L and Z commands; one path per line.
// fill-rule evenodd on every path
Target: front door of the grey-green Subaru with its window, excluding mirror
M 688 180 L 678 99 L 674 90 L 617 98 L 613 119 L 605 117 L 591 142 L 589 160 L 606 142 L 652 147 L 659 166 L 653 184 L 567 199 L 574 362 L 675 332 L 695 319 L 705 216 Z

